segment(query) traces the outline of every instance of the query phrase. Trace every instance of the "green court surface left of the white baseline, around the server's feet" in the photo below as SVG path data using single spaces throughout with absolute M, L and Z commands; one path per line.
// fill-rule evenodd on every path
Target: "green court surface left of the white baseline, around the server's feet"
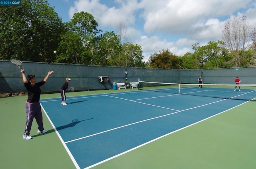
M 75 169 L 68 153 L 55 132 L 37 134 L 34 119 L 31 140 L 22 135 L 26 123 L 25 102 L 28 96 L 0 98 L 0 166 L 3 169 Z M 44 128 L 52 131 L 52 126 L 43 114 Z

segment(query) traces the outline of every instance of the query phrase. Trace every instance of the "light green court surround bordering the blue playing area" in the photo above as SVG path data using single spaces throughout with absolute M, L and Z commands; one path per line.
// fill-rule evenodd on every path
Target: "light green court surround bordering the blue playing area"
M 95 92 L 99 91 L 68 94 L 83 96 L 96 94 Z M 113 90 L 100 92 L 113 92 Z M 58 97 L 59 94 L 44 94 L 41 98 Z M 33 139 L 22 139 L 26 118 L 24 108 L 26 98 L 27 96 L 0 98 L 1 128 L 7 131 L 6 137 L 1 137 L 1 166 L 20 168 L 20 166 L 28 166 L 29 159 L 30 167 L 76 168 L 45 115 L 44 126 L 49 133 L 36 134 L 37 126 L 34 122 L 31 130 Z M 205 100 L 204 97 L 202 99 Z M 256 166 L 254 110 L 255 102 L 246 102 L 93 168 L 254 168 Z M 15 163 L 12 162 L 13 159 L 16 159 Z M 45 162 L 38 159 L 44 159 Z

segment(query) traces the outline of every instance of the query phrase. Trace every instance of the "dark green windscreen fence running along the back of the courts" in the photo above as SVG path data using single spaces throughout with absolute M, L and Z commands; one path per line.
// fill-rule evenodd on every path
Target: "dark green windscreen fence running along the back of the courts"
M 134 67 L 104 67 L 90 65 L 69 65 L 57 63 L 22 62 L 25 74 L 36 75 L 36 81 L 41 81 L 48 71 L 53 70 L 45 85 L 43 92 L 57 92 L 65 82 L 66 77 L 72 79 L 69 86 L 76 90 L 97 90 L 112 88 L 114 82 L 121 83 L 141 81 L 164 83 L 198 83 L 202 76 L 205 84 L 234 84 L 236 76 L 240 77 L 242 84 L 256 84 L 256 67 L 228 68 L 228 69 L 146 69 Z M 125 71 L 127 70 L 127 75 Z M 104 83 L 98 81 L 104 76 Z M 109 81 L 107 81 L 109 77 Z M 127 79 L 126 79 L 127 78 Z M 0 93 L 26 92 L 22 81 L 20 69 L 10 61 L 0 61 Z

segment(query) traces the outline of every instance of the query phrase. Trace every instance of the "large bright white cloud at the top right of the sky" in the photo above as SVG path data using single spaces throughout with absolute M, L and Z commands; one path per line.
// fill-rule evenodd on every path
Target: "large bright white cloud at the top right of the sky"
M 243 8 L 251 0 L 169 0 L 156 11 L 145 10 L 144 30 L 148 33 L 164 31 L 182 33 L 207 18 L 228 16 Z

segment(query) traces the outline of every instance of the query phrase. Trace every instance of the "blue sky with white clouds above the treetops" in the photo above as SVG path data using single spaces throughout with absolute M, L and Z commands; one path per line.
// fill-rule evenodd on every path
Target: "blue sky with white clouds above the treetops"
M 246 16 L 256 28 L 256 0 L 48 0 L 68 22 L 76 12 L 88 12 L 98 29 L 114 31 L 122 23 L 126 36 L 142 47 L 144 60 L 163 49 L 178 56 L 194 52 L 192 45 L 222 40 L 227 19 Z

